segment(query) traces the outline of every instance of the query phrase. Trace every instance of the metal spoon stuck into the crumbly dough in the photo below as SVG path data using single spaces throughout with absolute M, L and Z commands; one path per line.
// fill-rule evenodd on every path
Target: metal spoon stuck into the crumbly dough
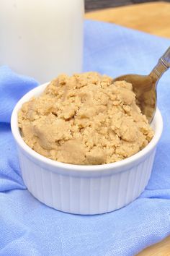
M 146 115 L 151 123 L 156 111 L 156 85 L 162 74 L 170 67 L 170 47 L 158 60 L 158 64 L 153 68 L 150 74 L 125 74 L 113 80 L 130 82 L 133 85 L 133 92 L 136 95 L 136 103 L 143 114 Z

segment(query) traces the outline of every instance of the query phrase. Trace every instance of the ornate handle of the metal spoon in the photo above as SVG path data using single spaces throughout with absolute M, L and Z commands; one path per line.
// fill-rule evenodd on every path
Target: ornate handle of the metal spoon
M 153 80 L 158 82 L 162 74 L 164 74 L 164 72 L 166 72 L 166 70 L 169 69 L 169 67 L 170 67 L 170 47 L 166 50 L 163 56 L 161 56 L 161 58 L 158 60 L 158 64 L 156 64 L 156 67 L 153 68 L 149 76 L 152 77 Z

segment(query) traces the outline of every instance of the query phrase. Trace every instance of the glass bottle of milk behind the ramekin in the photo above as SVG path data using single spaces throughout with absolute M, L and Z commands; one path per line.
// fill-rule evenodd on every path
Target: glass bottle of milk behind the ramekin
M 0 65 L 48 82 L 81 72 L 84 0 L 0 0 Z

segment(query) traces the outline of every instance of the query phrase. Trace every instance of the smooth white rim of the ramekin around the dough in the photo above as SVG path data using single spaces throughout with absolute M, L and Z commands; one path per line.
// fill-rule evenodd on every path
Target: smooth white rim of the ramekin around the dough
M 80 166 L 80 165 L 73 165 L 69 163 L 61 163 L 58 161 L 53 161 L 49 158 L 45 158 L 43 155 L 40 155 L 39 153 L 35 152 L 35 150 L 32 150 L 25 142 L 22 140 L 22 136 L 20 135 L 19 132 L 19 127 L 17 123 L 17 114 L 19 109 L 22 107 L 22 104 L 26 101 L 29 101 L 30 98 L 33 96 L 37 97 L 42 93 L 43 90 L 45 90 L 46 86 L 48 83 L 45 83 L 44 85 L 39 85 L 37 88 L 34 88 L 33 90 L 30 90 L 27 94 L 25 94 L 17 103 L 17 105 L 14 108 L 14 111 L 12 112 L 12 119 L 11 119 L 11 127 L 12 127 L 12 134 L 14 136 L 14 139 L 17 141 L 17 144 L 19 145 L 22 150 L 27 152 L 28 155 L 31 155 L 32 158 L 37 158 L 37 160 L 42 161 L 43 163 L 50 164 L 50 166 L 55 166 L 55 167 L 61 167 L 65 169 L 72 169 L 72 170 L 77 170 L 77 171 L 91 171 L 91 170 L 104 170 L 107 168 L 117 168 L 120 166 L 126 166 L 133 161 L 138 160 L 139 158 L 142 158 L 143 156 L 147 155 L 157 144 L 158 140 L 161 137 L 161 132 L 163 129 L 163 121 L 161 117 L 161 113 L 156 108 L 156 114 L 153 118 L 153 121 L 151 123 L 151 127 L 153 128 L 155 134 L 153 136 L 153 139 L 151 142 L 148 143 L 146 148 L 143 148 L 143 150 L 139 151 L 135 155 L 130 156 L 129 158 L 125 158 L 122 161 L 118 161 L 115 163 L 107 163 L 104 165 L 97 165 L 97 166 Z

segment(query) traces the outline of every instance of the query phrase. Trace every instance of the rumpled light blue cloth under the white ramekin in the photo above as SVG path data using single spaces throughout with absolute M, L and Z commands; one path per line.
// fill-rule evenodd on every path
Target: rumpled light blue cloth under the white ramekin
M 170 40 L 85 22 L 84 71 L 147 74 Z M 164 132 L 150 182 L 130 205 L 99 216 L 61 213 L 38 202 L 20 174 L 9 126 L 15 103 L 37 82 L 0 68 L 0 256 L 132 256 L 170 234 L 170 72 L 158 85 Z

